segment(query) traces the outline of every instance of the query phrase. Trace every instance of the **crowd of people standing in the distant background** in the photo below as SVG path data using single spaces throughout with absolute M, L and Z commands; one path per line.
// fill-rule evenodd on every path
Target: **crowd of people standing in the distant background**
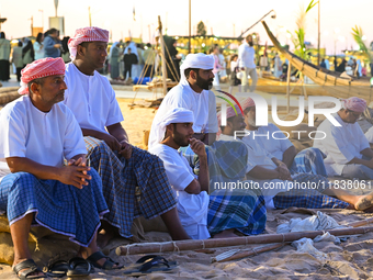
M 16 74 L 20 81 L 21 70 L 25 65 L 45 57 L 61 57 L 65 63 L 70 61 L 68 41 L 70 37 L 65 36 L 60 40 L 59 31 L 50 29 L 47 32 L 38 33 L 35 41 L 23 37 L 14 42 L 5 38 L 4 32 L 0 33 L 0 81 L 8 81 L 10 74 Z M 33 43 L 34 42 L 34 43 Z M 166 44 L 166 69 L 167 77 L 172 81 L 180 80 L 180 64 L 184 55 L 178 51 L 177 41 L 171 38 Z M 150 44 L 135 43 L 132 38 L 125 38 L 125 42 L 115 42 L 108 47 L 108 59 L 101 74 L 109 74 L 112 80 L 122 80 L 131 85 L 138 80 L 149 81 L 156 72 L 160 74 L 160 58 L 157 56 L 155 47 Z M 263 74 L 272 75 L 280 80 L 286 80 L 289 61 L 283 60 L 278 53 L 267 53 L 258 55 L 251 35 L 248 35 L 245 42 L 236 52 L 228 54 L 217 44 L 213 45 L 207 52 L 215 58 L 214 65 L 214 89 L 221 90 L 221 82 L 229 83 L 229 92 L 234 87 L 239 86 L 239 90 L 253 91 L 258 78 Z M 330 59 L 330 61 L 329 61 Z M 346 72 L 350 76 L 364 77 L 368 69 L 373 69 L 373 65 L 366 65 L 355 57 L 323 58 L 320 67 Z M 332 67 L 332 66 L 334 67 Z M 372 70 L 371 70 L 372 75 Z M 295 79 L 298 77 L 297 71 L 292 74 Z M 145 79 L 146 78 L 146 79 Z M 136 83 L 135 82 L 135 83 Z

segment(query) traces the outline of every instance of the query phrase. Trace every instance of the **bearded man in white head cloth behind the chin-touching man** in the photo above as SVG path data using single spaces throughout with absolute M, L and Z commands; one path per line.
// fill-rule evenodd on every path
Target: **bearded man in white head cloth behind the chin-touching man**
M 215 141 L 218 131 L 215 94 L 210 89 L 214 80 L 214 57 L 205 54 L 189 54 L 180 66 L 180 82 L 163 99 L 152 121 L 149 148 L 158 144 L 157 124 L 176 108 L 191 110 L 194 114 L 194 137 L 205 144 Z

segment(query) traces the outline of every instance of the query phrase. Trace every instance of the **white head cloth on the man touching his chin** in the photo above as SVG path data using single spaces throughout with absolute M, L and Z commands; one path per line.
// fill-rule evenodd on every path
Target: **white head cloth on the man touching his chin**
M 184 108 L 176 108 L 169 111 L 156 125 L 156 139 L 157 143 L 160 143 L 166 133 L 166 126 L 171 123 L 193 123 L 194 114 L 192 111 L 187 110 Z

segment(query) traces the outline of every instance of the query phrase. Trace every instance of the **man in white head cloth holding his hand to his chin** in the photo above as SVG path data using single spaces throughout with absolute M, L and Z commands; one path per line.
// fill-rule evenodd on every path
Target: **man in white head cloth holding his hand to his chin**
M 193 135 L 193 112 L 187 109 L 173 109 L 158 124 L 159 144 L 149 153 L 158 156 L 165 165 L 167 177 L 178 199 L 178 212 L 182 226 L 193 239 L 207 239 L 208 210 L 208 166 L 205 145 Z M 199 155 L 200 176 L 193 173 L 183 155 L 181 146 L 191 145 Z

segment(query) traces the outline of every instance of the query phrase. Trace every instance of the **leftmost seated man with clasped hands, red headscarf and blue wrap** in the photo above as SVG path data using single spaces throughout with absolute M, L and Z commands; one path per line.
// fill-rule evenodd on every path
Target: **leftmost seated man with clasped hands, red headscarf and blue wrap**
M 12 173 L 0 182 L 0 209 L 7 211 L 19 278 L 43 278 L 27 246 L 31 225 L 69 236 L 79 255 L 94 266 L 120 268 L 98 250 L 100 216 L 108 213 L 101 180 L 86 164 L 87 149 L 64 100 L 65 64 L 45 58 L 22 70 L 23 97 L 0 111 L 0 158 Z M 68 166 L 64 166 L 64 157 Z

